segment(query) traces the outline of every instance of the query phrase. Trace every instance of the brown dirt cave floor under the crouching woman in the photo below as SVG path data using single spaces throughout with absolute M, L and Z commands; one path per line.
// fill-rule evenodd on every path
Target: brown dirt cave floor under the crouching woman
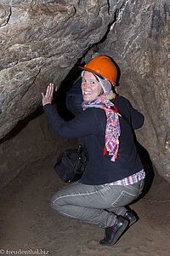
M 1 191 L 0 254 L 170 255 L 170 186 L 157 173 L 149 192 L 131 205 L 139 221 L 116 245 L 102 247 L 104 230 L 99 226 L 62 217 L 51 209 L 52 195 L 65 186 L 54 172 L 55 160 L 56 154 L 29 164 Z

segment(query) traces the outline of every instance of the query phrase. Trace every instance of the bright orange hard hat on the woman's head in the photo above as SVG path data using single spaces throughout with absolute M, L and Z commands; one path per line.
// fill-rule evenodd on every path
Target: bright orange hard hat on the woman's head
M 99 76 L 103 76 L 113 85 L 116 85 L 117 69 L 115 64 L 107 56 L 98 55 L 81 68 L 96 73 Z

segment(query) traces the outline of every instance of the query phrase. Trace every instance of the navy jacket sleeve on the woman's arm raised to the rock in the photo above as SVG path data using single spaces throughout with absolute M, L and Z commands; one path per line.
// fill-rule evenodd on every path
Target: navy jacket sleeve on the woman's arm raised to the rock
M 43 111 L 48 119 L 49 125 L 59 137 L 84 137 L 94 134 L 98 127 L 98 118 L 93 108 L 86 109 L 69 122 L 61 119 L 59 113 L 57 113 L 51 104 L 46 104 L 43 107 Z

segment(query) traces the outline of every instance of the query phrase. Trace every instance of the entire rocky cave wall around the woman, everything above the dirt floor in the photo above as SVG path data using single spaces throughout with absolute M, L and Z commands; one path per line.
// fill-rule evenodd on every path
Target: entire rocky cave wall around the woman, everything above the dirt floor
M 43 115 L 26 117 L 41 113 L 49 82 L 58 90 L 71 68 L 96 52 L 120 67 L 118 92 L 144 113 L 139 143 L 169 181 L 169 27 L 168 0 L 1 1 L 1 186 L 66 142 Z M 22 119 L 28 124 L 21 129 Z

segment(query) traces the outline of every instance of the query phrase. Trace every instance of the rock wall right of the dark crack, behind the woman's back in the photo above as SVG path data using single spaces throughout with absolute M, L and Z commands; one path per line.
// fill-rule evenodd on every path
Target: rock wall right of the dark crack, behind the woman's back
M 99 53 L 121 69 L 122 96 L 144 113 L 139 143 L 162 177 L 170 180 L 170 3 L 125 1 Z

